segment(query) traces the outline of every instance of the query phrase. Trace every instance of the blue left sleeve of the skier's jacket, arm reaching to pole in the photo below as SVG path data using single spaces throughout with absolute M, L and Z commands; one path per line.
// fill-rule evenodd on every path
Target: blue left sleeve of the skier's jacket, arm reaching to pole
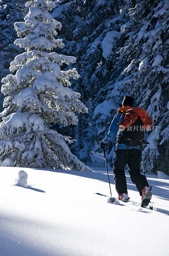
M 106 135 L 106 137 L 103 139 L 103 142 L 105 144 L 109 143 L 109 141 L 112 140 L 116 136 L 116 134 L 118 132 L 118 123 L 119 123 L 121 115 L 122 115 L 121 113 L 118 113 L 114 116 L 113 121 L 111 122 L 110 127 L 109 127 L 109 132 Z

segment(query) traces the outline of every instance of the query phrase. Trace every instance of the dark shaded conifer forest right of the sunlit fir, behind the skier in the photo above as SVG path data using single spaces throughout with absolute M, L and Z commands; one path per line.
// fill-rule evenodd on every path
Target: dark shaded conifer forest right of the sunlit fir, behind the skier
M 59 38 L 66 47 L 60 52 L 77 58 L 74 67 L 81 76 L 72 86 L 89 109 L 69 129 L 77 140 L 71 146 L 75 155 L 88 163 L 92 151 L 101 152 L 97 142 L 127 94 L 153 119 L 143 150 L 146 170 L 167 173 L 169 1 L 61 0 L 52 16 L 63 24 Z M 115 141 L 107 148 L 110 166 Z

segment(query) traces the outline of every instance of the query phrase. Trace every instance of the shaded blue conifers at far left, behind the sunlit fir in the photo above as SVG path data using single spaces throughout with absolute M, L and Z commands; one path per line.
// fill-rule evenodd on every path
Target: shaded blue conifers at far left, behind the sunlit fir
M 0 87 L 1 80 L 9 74 L 10 62 L 16 55 L 22 52 L 13 42 L 17 39 L 14 28 L 16 20 L 24 20 L 26 13 L 25 0 L 1 0 L 0 1 Z M 0 92 L 1 94 L 1 92 Z M 3 108 L 3 96 L 0 95 L 0 110 Z

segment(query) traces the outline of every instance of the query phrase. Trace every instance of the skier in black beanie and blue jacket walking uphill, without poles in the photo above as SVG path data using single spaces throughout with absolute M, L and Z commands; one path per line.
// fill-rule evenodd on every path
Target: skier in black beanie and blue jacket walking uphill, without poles
M 146 207 L 151 200 L 152 191 L 145 175 L 140 173 L 141 146 L 146 143 L 144 130 L 151 127 L 152 119 L 143 108 L 133 108 L 133 103 L 134 98 L 125 95 L 122 108 L 119 108 L 114 116 L 108 134 L 100 142 L 100 147 L 105 148 L 117 134 L 113 173 L 118 199 L 123 202 L 129 201 L 124 172 L 124 167 L 128 164 L 131 181 L 136 184 L 141 196 L 141 206 Z

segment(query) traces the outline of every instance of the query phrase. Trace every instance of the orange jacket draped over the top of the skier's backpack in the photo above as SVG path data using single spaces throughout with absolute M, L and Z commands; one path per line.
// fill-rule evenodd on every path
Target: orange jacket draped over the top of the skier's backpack
M 140 117 L 145 130 L 152 126 L 152 119 L 147 116 L 147 112 L 143 108 L 137 107 L 127 109 L 123 112 L 122 116 L 124 117 L 124 121 L 118 123 L 118 126 L 123 125 L 126 128 L 130 124 L 133 124 L 138 116 Z

